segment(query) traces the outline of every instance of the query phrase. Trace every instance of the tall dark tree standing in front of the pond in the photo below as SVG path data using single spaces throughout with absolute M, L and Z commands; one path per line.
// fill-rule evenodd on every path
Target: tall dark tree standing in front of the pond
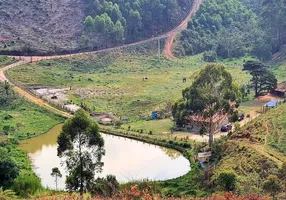
M 67 188 L 81 194 L 88 191 L 95 172 L 102 171 L 103 155 L 104 140 L 98 125 L 88 113 L 80 109 L 64 123 L 58 137 L 58 156 L 65 157 L 69 171 Z

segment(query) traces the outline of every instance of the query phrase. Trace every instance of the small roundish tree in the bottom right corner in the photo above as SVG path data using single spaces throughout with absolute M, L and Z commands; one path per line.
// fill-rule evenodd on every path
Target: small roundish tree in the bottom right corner
M 265 192 L 270 193 L 273 199 L 276 199 L 277 194 L 282 191 L 282 185 L 275 175 L 268 176 L 262 187 Z

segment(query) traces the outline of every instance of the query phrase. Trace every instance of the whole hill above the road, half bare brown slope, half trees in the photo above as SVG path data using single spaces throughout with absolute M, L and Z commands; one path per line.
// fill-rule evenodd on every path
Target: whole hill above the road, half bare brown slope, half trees
M 0 0 L 0 53 L 59 54 L 169 31 L 193 0 Z

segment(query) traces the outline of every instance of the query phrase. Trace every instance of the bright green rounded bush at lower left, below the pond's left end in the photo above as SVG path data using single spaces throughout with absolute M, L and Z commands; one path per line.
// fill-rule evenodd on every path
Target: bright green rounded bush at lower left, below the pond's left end
M 42 189 L 41 181 L 34 174 L 22 172 L 20 176 L 14 180 L 13 190 L 19 196 L 26 197 L 33 195 L 40 189 Z

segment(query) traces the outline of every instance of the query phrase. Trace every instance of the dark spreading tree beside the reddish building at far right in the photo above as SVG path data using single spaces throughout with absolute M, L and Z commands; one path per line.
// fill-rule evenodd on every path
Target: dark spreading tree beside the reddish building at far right
M 249 71 L 252 79 L 250 80 L 254 87 L 255 96 L 260 96 L 277 87 L 277 79 L 274 74 L 267 69 L 267 66 L 257 61 L 247 61 L 243 65 L 243 70 Z

